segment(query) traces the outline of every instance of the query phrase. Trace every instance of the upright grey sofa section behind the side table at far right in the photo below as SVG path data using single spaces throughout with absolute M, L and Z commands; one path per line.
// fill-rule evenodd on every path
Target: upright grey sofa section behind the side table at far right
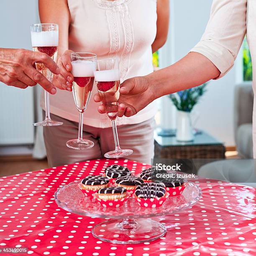
M 238 154 L 243 159 L 251 159 L 253 158 L 253 90 L 251 83 L 236 86 L 234 110 L 235 141 Z

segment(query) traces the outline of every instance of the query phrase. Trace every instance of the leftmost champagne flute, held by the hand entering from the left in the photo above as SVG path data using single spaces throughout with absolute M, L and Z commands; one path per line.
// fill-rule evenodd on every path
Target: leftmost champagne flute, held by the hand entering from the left
M 57 60 L 58 43 L 59 43 L 59 26 L 52 23 L 41 23 L 31 25 L 31 42 L 33 51 L 40 51 L 46 53 L 55 62 Z M 44 66 L 43 63 L 36 63 L 36 69 L 41 72 L 46 79 L 52 81 L 53 74 Z M 45 100 L 45 119 L 42 122 L 34 123 L 38 126 L 56 126 L 62 125 L 62 122 L 56 122 L 51 120 L 50 117 L 50 105 L 49 105 L 49 92 L 44 90 Z

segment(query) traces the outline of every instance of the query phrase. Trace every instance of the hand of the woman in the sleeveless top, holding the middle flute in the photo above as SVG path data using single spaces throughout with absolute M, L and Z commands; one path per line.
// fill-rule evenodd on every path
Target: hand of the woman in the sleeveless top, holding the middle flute
M 72 91 L 72 82 L 74 81 L 74 77 L 71 73 L 72 64 L 70 54 L 74 52 L 71 50 L 67 50 L 58 60 L 58 66 L 60 68 L 60 74 L 56 76 L 54 81 L 54 85 L 62 90 Z

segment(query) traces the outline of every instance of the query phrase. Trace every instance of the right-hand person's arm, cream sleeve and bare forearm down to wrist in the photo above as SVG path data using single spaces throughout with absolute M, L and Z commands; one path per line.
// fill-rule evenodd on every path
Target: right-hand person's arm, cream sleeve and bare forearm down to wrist
M 246 33 L 246 10 L 247 0 L 213 0 L 201 41 L 180 61 L 148 75 L 150 83 L 157 83 L 155 97 L 225 75 L 234 65 Z

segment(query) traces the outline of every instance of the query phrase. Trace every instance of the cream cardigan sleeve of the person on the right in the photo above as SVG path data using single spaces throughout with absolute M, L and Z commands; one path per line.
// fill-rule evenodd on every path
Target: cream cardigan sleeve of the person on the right
M 223 77 L 234 65 L 246 34 L 247 0 L 213 0 L 201 41 L 191 50 L 206 56 Z

